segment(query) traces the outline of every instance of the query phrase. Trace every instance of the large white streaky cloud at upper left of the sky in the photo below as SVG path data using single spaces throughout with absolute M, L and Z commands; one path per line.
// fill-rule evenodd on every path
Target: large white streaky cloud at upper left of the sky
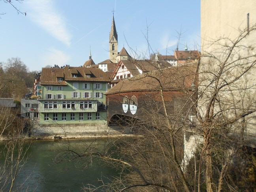
M 49 32 L 57 40 L 70 45 L 71 35 L 66 28 L 66 22 L 55 8 L 53 0 L 28 0 L 26 3 L 32 9 L 29 17 Z

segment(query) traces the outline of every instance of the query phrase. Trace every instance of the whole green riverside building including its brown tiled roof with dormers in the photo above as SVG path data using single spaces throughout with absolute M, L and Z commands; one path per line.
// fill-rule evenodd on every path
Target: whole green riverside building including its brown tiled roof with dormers
M 105 124 L 107 83 L 98 68 L 42 68 L 39 123 Z

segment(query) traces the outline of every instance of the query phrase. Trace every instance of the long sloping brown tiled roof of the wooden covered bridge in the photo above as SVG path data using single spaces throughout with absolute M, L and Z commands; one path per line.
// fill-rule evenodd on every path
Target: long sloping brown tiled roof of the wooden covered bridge
M 190 62 L 184 66 L 172 66 L 162 70 L 143 73 L 135 77 L 120 80 L 117 85 L 107 91 L 107 95 L 121 92 L 160 90 L 158 80 L 164 90 L 177 90 L 198 85 L 197 62 Z

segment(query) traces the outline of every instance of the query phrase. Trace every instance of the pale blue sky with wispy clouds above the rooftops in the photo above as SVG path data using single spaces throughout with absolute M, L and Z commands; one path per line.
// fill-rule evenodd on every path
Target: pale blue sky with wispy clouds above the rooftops
M 14 2 L 14 1 L 12 1 Z M 200 0 L 24 0 L 14 2 L 26 16 L 0 0 L 0 62 L 19 57 L 30 71 L 46 65 L 81 66 L 91 47 L 96 64 L 109 58 L 114 11 L 118 51 L 131 56 L 173 55 L 200 50 Z M 136 53 L 136 54 L 135 54 Z

